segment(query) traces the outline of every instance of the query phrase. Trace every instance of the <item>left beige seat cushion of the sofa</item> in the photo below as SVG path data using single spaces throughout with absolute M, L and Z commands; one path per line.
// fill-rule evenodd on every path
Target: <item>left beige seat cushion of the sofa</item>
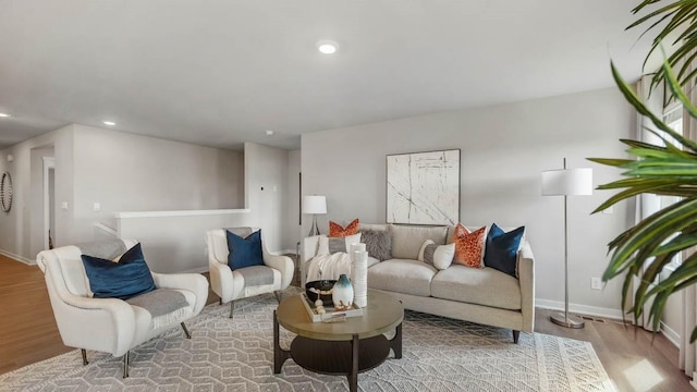
M 390 259 L 368 268 L 368 287 L 429 296 L 437 269 L 418 260 Z

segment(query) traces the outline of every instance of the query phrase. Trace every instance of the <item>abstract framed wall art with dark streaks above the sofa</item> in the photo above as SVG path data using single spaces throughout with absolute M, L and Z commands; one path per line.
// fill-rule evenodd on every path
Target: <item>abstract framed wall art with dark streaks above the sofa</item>
M 387 156 L 387 222 L 460 221 L 460 149 Z

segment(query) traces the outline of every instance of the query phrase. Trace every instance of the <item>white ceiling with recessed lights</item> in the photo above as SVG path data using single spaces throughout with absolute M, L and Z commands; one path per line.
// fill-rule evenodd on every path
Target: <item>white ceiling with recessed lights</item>
M 613 85 L 635 0 L 0 0 L 0 148 L 70 123 L 221 148 Z M 335 54 L 316 49 L 340 45 Z M 266 131 L 274 135 L 266 135 Z

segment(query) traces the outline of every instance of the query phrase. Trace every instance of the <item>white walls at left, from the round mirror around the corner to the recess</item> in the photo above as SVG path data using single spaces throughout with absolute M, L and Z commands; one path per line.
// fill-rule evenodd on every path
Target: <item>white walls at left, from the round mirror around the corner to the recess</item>
M 56 246 L 91 241 L 95 222 L 115 228 L 114 212 L 229 209 L 244 204 L 240 151 L 69 125 L 0 151 L 0 172 L 12 173 L 15 191 L 12 211 L 0 213 L 0 252 L 24 261 L 33 261 L 41 249 L 37 238 L 44 209 L 36 208 L 32 195 L 42 176 L 39 156 L 51 148 Z M 12 163 L 7 161 L 10 154 Z M 62 203 L 68 209 L 60 208 Z M 94 211 L 94 203 L 101 205 L 100 211 Z M 203 233 L 196 240 L 197 254 L 203 254 L 201 238 Z

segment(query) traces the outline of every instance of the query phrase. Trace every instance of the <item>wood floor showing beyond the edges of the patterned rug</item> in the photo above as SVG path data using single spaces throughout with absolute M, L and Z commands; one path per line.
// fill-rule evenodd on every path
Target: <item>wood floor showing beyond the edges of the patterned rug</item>
M 211 292 L 208 303 L 217 301 Z M 38 267 L 0 255 L 0 373 L 73 350 L 62 344 Z M 536 332 L 590 342 L 617 391 L 694 391 L 677 368 L 677 348 L 662 335 L 651 342 L 651 333 L 614 320 L 565 329 L 550 314 L 537 309 Z

